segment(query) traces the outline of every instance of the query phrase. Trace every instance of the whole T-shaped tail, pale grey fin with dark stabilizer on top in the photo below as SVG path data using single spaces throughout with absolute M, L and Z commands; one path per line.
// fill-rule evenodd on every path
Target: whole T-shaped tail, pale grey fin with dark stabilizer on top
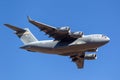
M 21 41 L 24 44 L 38 41 L 28 28 L 22 29 L 22 28 L 12 26 L 10 24 L 4 24 L 4 25 L 14 30 L 15 34 L 21 39 Z

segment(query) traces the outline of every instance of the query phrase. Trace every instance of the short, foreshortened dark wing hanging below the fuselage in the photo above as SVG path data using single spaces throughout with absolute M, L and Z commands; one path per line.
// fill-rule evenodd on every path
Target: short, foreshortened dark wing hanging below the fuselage
M 78 55 L 70 56 L 70 58 L 72 58 L 72 61 L 76 63 L 76 65 L 79 69 L 84 67 L 84 55 L 85 55 L 85 53 L 82 52 Z

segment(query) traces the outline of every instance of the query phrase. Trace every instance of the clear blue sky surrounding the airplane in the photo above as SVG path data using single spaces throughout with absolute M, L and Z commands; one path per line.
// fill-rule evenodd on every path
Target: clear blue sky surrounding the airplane
M 97 60 L 85 61 L 79 70 L 69 57 L 19 49 L 22 42 L 4 23 L 49 39 L 28 23 L 28 15 L 55 27 L 102 33 L 111 41 L 99 48 Z M 0 0 L 0 26 L 0 80 L 120 80 L 120 0 Z

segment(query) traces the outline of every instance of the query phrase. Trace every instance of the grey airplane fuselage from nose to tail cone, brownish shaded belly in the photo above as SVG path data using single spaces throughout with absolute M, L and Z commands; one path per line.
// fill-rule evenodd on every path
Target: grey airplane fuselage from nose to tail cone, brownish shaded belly
M 43 52 L 50 54 L 69 54 L 69 53 L 79 53 L 86 52 L 92 49 L 97 49 L 98 47 L 109 42 L 109 38 L 102 34 L 92 34 L 84 35 L 76 40 L 63 42 L 57 40 L 44 40 L 31 42 L 22 46 L 22 49 L 33 51 L 33 52 Z

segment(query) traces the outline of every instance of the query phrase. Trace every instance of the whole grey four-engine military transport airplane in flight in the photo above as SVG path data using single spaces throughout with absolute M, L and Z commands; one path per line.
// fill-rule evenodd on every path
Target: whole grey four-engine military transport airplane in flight
M 94 60 L 97 57 L 96 54 L 85 54 L 86 52 L 96 52 L 99 47 L 110 41 L 103 34 L 84 35 L 83 32 L 71 32 L 69 27 L 56 28 L 34 21 L 30 17 L 28 21 L 54 40 L 38 41 L 28 28 L 22 29 L 4 24 L 14 30 L 24 43 L 24 46 L 20 48 L 31 52 L 70 56 L 79 69 L 84 67 L 84 60 Z

